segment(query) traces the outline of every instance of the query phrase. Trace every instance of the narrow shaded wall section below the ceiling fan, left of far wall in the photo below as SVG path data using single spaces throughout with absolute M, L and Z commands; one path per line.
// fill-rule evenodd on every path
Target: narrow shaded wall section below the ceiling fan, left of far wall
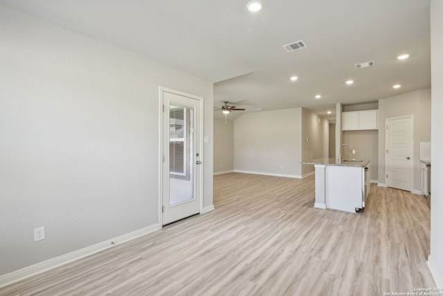
M 234 170 L 234 121 L 214 119 L 214 173 Z

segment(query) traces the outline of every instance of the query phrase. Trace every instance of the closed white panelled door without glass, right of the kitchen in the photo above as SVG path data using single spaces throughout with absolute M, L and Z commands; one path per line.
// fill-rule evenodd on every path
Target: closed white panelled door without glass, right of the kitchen
M 386 119 L 386 185 L 411 191 L 413 118 Z

